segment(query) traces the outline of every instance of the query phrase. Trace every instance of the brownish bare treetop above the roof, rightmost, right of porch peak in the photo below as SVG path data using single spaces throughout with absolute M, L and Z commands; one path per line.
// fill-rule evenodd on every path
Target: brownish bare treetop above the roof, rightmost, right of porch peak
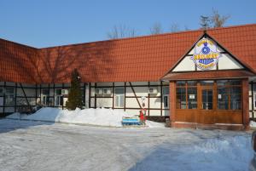
M 223 27 L 226 21 L 230 19 L 230 15 L 220 15 L 218 14 L 218 10 L 212 9 L 212 16 L 210 18 L 212 27 Z

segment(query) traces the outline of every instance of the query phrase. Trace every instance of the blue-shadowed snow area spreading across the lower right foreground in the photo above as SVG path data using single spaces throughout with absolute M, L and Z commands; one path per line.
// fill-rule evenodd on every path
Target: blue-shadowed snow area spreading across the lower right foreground
M 221 135 L 212 139 L 196 135 L 193 139 L 201 140 L 195 143 L 184 139 L 179 145 L 173 141 L 161 145 L 130 170 L 248 170 L 253 158 L 249 135 Z

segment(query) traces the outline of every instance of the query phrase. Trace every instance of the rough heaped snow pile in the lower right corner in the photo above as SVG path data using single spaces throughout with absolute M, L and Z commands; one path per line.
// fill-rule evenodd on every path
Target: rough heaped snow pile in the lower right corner
M 245 170 L 253 158 L 253 149 L 250 136 L 210 139 L 185 148 L 179 158 L 190 161 L 192 170 Z

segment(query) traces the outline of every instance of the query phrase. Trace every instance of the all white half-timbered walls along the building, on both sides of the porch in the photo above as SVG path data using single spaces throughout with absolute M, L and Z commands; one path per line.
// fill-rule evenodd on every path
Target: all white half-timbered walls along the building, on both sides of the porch
M 134 89 L 136 95 L 132 92 Z M 148 87 L 155 87 L 158 89 L 157 94 L 148 94 Z M 6 94 L 6 90 L 12 89 L 13 94 Z M 69 83 L 61 84 L 26 84 L 26 83 L 8 83 L 0 82 L 0 116 L 5 114 L 13 113 L 15 111 L 26 111 L 30 107 L 36 105 L 42 105 L 43 102 L 43 89 L 49 89 L 49 104 L 45 106 L 58 107 L 60 109 L 66 108 L 67 95 L 63 96 L 63 104 L 55 104 L 56 89 L 69 89 Z M 84 92 L 84 106 L 85 108 L 95 108 L 95 107 L 109 107 L 113 109 L 121 109 L 131 113 L 138 113 L 140 105 L 142 105 L 141 97 L 145 96 L 146 108 L 148 109 L 148 116 L 169 116 L 169 106 L 164 104 L 164 94 L 163 92 L 168 87 L 168 83 L 165 82 L 137 82 L 137 83 L 81 83 L 82 91 Z M 96 96 L 95 88 L 110 88 L 112 89 L 112 94 L 108 96 Z M 117 107 L 114 102 L 114 89 L 124 88 L 125 89 L 125 101 L 123 107 Z M 25 94 L 24 94 L 25 93 Z M 13 95 L 13 100 L 8 101 Z M 169 97 L 166 97 L 169 98 Z M 149 103 L 148 103 L 149 101 Z M 29 105 L 28 105 L 28 103 Z M 96 102 L 96 103 L 95 103 Z M 96 105 L 95 105 L 96 104 Z M 3 114 L 5 113 L 5 114 Z M 251 120 L 256 120 L 256 82 L 251 81 L 249 83 L 249 116 Z

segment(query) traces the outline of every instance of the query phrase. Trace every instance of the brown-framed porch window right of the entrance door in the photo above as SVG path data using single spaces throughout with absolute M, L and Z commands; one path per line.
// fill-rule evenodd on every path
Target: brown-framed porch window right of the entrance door
M 218 80 L 218 109 L 241 110 L 241 81 Z

